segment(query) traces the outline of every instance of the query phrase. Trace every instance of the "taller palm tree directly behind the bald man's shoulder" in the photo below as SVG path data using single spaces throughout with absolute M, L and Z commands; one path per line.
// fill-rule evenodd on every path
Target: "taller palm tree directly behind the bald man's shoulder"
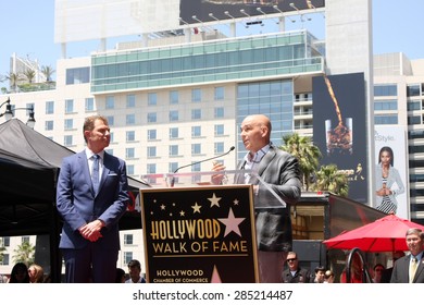
M 297 133 L 283 136 L 284 145 L 279 148 L 296 157 L 299 161 L 303 188 L 309 191 L 310 178 L 317 170 L 322 154 L 310 137 Z

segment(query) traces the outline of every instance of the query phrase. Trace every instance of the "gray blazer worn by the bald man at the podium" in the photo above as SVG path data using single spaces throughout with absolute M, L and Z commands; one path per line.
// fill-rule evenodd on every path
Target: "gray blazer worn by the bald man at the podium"
M 245 160 L 237 166 L 245 168 Z M 291 221 L 289 204 L 296 203 L 301 193 L 298 160 L 271 145 L 258 167 L 258 174 L 286 204 L 287 207 L 261 208 L 255 204 L 258 249 L 272 252 L 291 251 Z M 252 181 L 252 184 L 258 182 Z M 255 203 L 272 198 L 266 187 L 259 187 Z M 262 206 L 262 205 L 261 205 Z

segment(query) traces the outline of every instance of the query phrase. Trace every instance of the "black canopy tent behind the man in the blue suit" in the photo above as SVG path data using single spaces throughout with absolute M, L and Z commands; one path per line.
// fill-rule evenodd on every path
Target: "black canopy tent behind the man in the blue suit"
M 0 236 L 49 235 L 51 273 L 55 280 L 61 270 L 55 185 L 62 159 L 73 154 L 17 119 L 0 124 Z M 132 178 L 128 184 L 135 196 L 146 187 Z M 141 228 L 139 213 L 127 211 L 120 228 Z

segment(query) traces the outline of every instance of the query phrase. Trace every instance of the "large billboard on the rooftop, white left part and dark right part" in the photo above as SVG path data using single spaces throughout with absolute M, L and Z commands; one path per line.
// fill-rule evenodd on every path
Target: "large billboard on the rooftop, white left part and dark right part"
M 159 33 L 199 21 L 208 23 L 324 7 L 324 0 L 289 2 L 292 5 L 283 0 L 55 0 L 54 42 Z

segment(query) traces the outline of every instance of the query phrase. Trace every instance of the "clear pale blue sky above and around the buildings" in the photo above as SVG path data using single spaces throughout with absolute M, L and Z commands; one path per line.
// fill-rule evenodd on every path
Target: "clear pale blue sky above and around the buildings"
M 373 3 L 374 54 L 403 52 L 411 60 L 424 59 L 422 45 L 424 1 L 371 1 Z M 10 57 L 13 53 L 21 58 L 38 60 L 41 65 L 51 65 L 54 69 L 57 60 L 61 58 L 61 46 L 54 44 L 54 0 L 3 0 L 0 2 L 0 12 L 3 25 L 0 29 L 0 75 L 10 72 Z M 324 38 L 323 33 L 314 33 L 317 28 L 315 23 L 320 22 L 323 23 L 324 19 L 314 15 L 312 21 L 301 23 L 298 20 L 290 26 L 294 28 L 303 26 L 317 38 Z M 266 27 L 272 26 L 272 24 L 266 25 Z M 262 29 L 260 26 L 255 28 L 252 26 L 245 30 L 255 34 L 254 32 Z M 113 48 L 115 42 L 109 41 L 108 48 Z M 67 57 L 88 57 L 99 45 L 99 41 L 70 44 Z M 2 86 L 5 86 L 5 83 L 0 83 L 0 87 Z

